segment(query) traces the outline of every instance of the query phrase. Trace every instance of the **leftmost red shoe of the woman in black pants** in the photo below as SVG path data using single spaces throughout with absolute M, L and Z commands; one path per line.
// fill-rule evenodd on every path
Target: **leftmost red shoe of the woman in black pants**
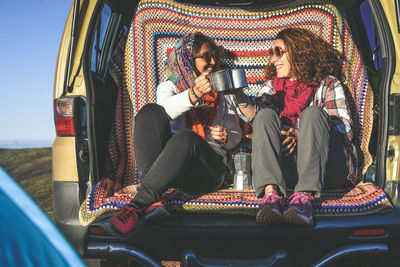
M 139 224 L 140 210 L 128 205 L 99 225 L 108 233 L 121 237 L 131 232 Z

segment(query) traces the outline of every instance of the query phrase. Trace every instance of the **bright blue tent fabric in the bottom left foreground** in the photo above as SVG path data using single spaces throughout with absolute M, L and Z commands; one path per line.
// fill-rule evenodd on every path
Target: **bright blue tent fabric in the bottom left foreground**
M 0 167 L 0 266 L 85 266 L 53 222 Z

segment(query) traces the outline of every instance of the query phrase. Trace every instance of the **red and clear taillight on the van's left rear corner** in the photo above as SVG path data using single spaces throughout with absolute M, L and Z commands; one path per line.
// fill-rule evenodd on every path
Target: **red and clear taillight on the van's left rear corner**
M 54 99 L 54 123 L 57 136 L 75 136 L 73 98 Z

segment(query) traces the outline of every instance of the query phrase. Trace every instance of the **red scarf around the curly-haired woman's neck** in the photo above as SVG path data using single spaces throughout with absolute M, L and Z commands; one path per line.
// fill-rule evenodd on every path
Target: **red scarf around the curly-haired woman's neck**
M 298 80 L 274 77 L 273 86 L 280 103 L 283 125 L 296 125 L 301 112 L 310 105 L 317 87 L 308 86 Z

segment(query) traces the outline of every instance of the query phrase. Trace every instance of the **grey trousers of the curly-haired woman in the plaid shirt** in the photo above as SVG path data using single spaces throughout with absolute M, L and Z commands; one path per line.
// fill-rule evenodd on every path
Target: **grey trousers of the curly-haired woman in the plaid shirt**
M 253 124 L 252 168 L 257 196 L 268 184 L 295 192 L 310 191 L 319 197 L 323 188 L 343 187 L 347 157 L 343 141 L 320 107 L 308 107 L 300 116 L 297 149 L 288 157 L 280 153 L 281 121 L 272 109 L 257 113 Z

